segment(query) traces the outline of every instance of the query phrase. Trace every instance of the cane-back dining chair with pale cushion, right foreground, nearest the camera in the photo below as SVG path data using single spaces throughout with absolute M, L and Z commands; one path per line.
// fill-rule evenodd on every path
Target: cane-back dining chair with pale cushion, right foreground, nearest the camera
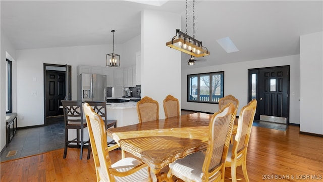
M 173 175 L 184 181 L 224 181 L 234 112 L 235 107 L 230 103 L 212 115 L 206 152 L 195 152 L 171 163 L 167 174 L 170 181 Z

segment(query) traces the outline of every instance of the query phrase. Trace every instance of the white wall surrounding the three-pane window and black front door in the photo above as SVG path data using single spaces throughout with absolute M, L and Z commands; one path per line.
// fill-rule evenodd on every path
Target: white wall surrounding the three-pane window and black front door
M 198 62 L 196 63 L 198 64 Z M 300 67 L 299 55 L 285 56 L 279 58 L 270 58 L 263 60 L 253 60 L 247 62 L 239 62 L 232 64 L 216 65 L 203 68 L 194 68 L 182 70 L 182 109 L 203 111 L 203 112 L 217 112 L 219 110 L 218 104 L 204 104 L 187 102 L 187 75 L 197 73 L 207 73 L 224 71 L 224 94 L 233 95 L 239 100 L 239 108 L 237 113 L 243 106 L 248 103 L 248 69 L 284 66 L 290 65 L 290 123 L 299 124 L 299 98 L 300 98 Z M 295 93 L 295 95 L 292 95 Z

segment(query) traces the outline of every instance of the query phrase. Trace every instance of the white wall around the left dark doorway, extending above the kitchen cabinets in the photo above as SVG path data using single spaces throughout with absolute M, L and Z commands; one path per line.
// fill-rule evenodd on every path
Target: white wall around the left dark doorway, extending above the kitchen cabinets
M 121 68 L 135 64 L 135 52 L 138 49 L 127 50 L 123 47 L 140 49 L 138 39 L 140 36 L 124 44 L 115 44 L 115 53 L 121 56 Z M 17 51 L 18 127 L 44 124 L 43 63 L 72 66 L 72 100 L 76 100 L 78 65 L 106 67 L 106 54 L 109 53 L 112 53 L 112 44 Z M 123 61 L 123 57 L 128 59 Z M 37 95 L 33 96 L 33 92 Z

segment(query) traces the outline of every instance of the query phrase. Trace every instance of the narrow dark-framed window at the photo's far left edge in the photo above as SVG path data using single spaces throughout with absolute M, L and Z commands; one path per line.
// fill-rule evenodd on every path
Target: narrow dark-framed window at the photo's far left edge
M 6 59 L 6 113 L 12 113 L 12 62 Z

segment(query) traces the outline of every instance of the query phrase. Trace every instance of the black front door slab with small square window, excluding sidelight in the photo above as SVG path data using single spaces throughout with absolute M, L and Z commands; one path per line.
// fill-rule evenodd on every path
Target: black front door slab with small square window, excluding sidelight
M 289 66 L 259 69 L 259 114 L 289 116 Z

